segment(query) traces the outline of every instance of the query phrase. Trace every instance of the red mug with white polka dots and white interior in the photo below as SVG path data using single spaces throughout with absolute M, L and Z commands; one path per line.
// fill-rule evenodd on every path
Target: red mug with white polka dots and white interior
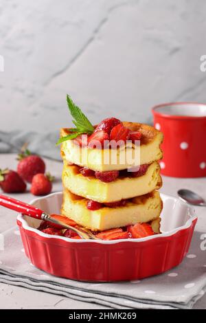
M 154 126 L 164 134 L 161 174 L 206 176 L 206 104 L 175 102 L 152 108 Z

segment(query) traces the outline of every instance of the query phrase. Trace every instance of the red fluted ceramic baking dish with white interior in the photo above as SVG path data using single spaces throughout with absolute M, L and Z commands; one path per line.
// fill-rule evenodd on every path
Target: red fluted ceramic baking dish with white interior
M 179 265 L 187 254 L 197 218 L 191 208 L 161 194 L 162 234 L 140 239 L 87 241 L 51 236 L 36 230 L 40 221 L 19 214 L 25 254 L 49 274 L 75 280 L 109 282 L 161 274 Z M 59 213 L 62 193 L 32 201 L 48 213 Z

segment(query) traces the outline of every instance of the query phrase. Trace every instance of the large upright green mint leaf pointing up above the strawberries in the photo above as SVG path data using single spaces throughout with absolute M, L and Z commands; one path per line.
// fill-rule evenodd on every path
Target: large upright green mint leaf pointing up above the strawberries
M 71 116 L 73 117 L 73 124 L 76 125 L 76 128 L 80 132 L 84 133 L 93 133 L 93 125 L 87 119 L 86 115 L 82 113 L 81 109 L 71 100 L 71 98 L 67 94 L 67 104 L 69 107 L 69 111 Z

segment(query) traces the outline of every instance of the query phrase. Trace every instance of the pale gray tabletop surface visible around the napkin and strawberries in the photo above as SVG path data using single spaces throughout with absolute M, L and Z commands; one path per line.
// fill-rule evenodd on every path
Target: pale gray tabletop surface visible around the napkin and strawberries
M 16 159 L 13 154 L 0 154 L 1 168 L 8 166 L 16 168 Z M 53 191 L 61 190 L 60 174 L 62 163 L 57 161 L 45 160 L 47 170 L 56 176 Z M 163 177 L 163 188 L 161 192 L 176 196 L 176 190 L 179 188 L 190 188 L 201 194 L 206 199 L 206 178 L 201 179 L 174 179 L 172 177 Z M 30 192 L 25 194 L 15 194 L 16 199 L 31 201 L 34 196 Z M 198 223 L 196 230 L 206 233 L 206 209 L 196 208 L 198 214 Z M 15 213 L 1 208 L 0 210 L 0 232 L 8 230 L 15 225 Z M 206 253 L 206 251 L 205 251 Z M 88 304 L 70 300 L 62 296 L 55 296 L 48 293 L 32 291 L 22 287 L 14 287 L 0 283 L 0 309 L 104 309 L 97 304 Z M 206 294 L 194 305 L 194 309 L 206 309 Z

